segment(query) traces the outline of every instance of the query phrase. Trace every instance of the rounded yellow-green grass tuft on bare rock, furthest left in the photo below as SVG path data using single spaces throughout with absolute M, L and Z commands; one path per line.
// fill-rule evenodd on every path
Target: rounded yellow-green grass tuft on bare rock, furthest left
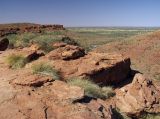
M 24 56 L 15 54 L 9 55 L 6 58 L 6 61 L 12 69 L 22 68 L 27 63 L 27 60 Z

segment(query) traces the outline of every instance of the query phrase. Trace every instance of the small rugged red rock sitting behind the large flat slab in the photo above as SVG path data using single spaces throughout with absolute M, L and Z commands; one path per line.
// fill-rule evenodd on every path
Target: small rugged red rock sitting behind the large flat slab
M 62 60 L 70 60 L 77 59 L 85 55 L 85 51 L 83 48 L 73 45 L 66 45 L 64 47 L 59 47 L 53 51 L 51 51 L 47 57 L 51 60 L 62 59 Z

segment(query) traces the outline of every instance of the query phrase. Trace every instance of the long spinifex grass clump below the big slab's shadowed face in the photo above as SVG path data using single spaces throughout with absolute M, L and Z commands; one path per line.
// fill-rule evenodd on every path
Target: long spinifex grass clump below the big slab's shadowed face
M 88 79 L 72 78 L 68 80 L 68 84 L 83 88 L 85 95 L 93 98 L 106 99 L 114 95 L 111 87 L 101 88 Z

